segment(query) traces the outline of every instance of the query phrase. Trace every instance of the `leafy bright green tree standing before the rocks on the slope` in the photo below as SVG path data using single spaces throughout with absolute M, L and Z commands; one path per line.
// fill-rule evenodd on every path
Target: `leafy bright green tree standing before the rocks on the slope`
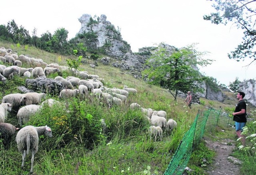
M 170 93 L 177 99 L 178 91 L 202 91 L 199 83 L 204 80 L 196 70 L 196 65 L 206 66 L 212 60 L 203 59 L 206 52 L 198 52 L 194 44 L 181 49 L 166 47 L 160 44 L 158 49 L 147 60 L 148 69 L 142 72 L 144 79 L 149 84 L 160 85 L 169 89 Z M 172 93 L 174 90 L 175 93 Z

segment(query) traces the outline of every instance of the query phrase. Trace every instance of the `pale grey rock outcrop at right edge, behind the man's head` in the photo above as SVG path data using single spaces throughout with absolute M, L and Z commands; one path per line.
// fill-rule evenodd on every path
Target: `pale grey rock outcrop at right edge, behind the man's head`
M 246 80 L 239 84 L 239 91 L 245 93 L 244 99 L 256 106 L 256 80 Z

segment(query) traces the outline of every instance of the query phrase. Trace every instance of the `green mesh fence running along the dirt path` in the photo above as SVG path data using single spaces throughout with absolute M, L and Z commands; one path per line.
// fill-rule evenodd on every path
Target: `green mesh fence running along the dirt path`
M 220 116 L 220 111 L 221 109 L 198 110 L 193 124 L 180 141 L 164 175 L 181 175 L 188 164 L 193 147 L 200 143 L 204 132 L 208 129 L 214 129 L 221 122 L 227 122 L 227 124 L 231 122 L 229 117 Z

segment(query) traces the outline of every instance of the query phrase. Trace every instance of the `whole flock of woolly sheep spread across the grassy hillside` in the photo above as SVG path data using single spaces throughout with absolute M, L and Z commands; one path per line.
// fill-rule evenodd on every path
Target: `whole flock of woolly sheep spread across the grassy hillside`
M 8 63 L 10 66 L 6 67 L 0 65 L 0 81 L 5 84 L 6 81 L 12 80 L 13 76 L 24 76 L 27 78 L 38 78 L 46 77 L 55 72 L 62 72 L 64 70 L 70 70 L 67 66 L 59 66 L 58 64 L 46 64 L 42 59 L 30 58 L 28 56 L 13 53 L 11 49 L 0 49 L 0 61 Z M 22 68 L 22 64 L 31 66 L 30 68 Z M 34 68 L 32 68 L 34 67 Z M 113 105 L 125 105 L 127 104 L 127 98 L 129 93 L 137 93 L 134 88 L 124 86 L 123 89 L 108 88 L 103 86 L 105 83 L 104 79 L 99 78 L 97 75 L 88 74 L 86 71 L 79 71 L 71 69 L 70 71 L 76 72 L 77 77 L 68 76 L 63 78 L 57 76 L 54 80 L 59 81 L 63 84 L 65 89 L 60 91 L 59 99 L 76 97 L 84 98 L 88 93 L 92 93 L 96 98 L 102 100 L 109 108 Z M 9 141 L 15 131 L 19 128 L 15 127 L 10 123 L 4 123 L 8 111 L 12 108 L 17 109 L 17 119 L 20 126 L 26 124 L 29 121 L 30 116 L 36 113 L 42 108 L 45 102 L 52 107 L 54 103 L 59 101 L 54 99 L 48 99 L 43 101 L 46 97 L 45 93 L 30 92 L 30 93 L 13 93 L 5 95 L 2 98 L 2 104 L 0 104 L 0 138 L 4 139 L 4 145 L 8 147 Z M 41 101 L 43 101 L 41 103 Z M 152 137 L 157 140 L 157 137 L 162 140 L 163 130 L 172 131 L 177 127 L 176 121 L 169 119 L 166 121 L 165 111 L 154 111 L 150 108 L 146 109 L 140 107 L 138 103 L 132 103 L 130 105 L 132 109 L 141 109 L 142 113 L 145 114 L 146 119 L 150 121 L 151 126 L 149 128 L 150 140 Z M 101 120 L 102 132 L 107 132 L 105 119 Z M 26 154 L 32 152 L 31 159 L 31 170 L 33 172 L 34 154 L 38 151 L 38 136 L 46 135 L 52 137 L 52 131 L 50 127 L 41 126 L 26 126 L 20 129 L 16 135 L 16 143 L 18 150 L 22 153 L 22 167 L 24 166 Z

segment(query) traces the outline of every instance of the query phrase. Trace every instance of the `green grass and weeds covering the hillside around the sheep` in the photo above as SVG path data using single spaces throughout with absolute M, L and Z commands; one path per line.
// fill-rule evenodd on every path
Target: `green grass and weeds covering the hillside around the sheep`
M 34 47 L 29 47 L 25 51 L 23 46 L 18 48 L 14 44 L 1 41 L 0 46 L 12 48 L 19 54 L 41 58 L 48 64 L 59 63 L 67 66 L 66 59 L 75 58 L 74 56 L 62 56 L 61 61 L 58 62 L 57 54 L 44 52 Z M 31 116 L 27 125 L 47 124 L 53 131 L 52 138 L 40 137 L 39 149 L 34 161 L 35 174 L 163 174 L 184 133 L 194 121 L 198 109 L 206 110 L 209 106 L 216 109 L 220 106 L 223 109 L 232 108 L 237 103 L 235 95 L 234 100 L 228 99 L 223 103 L 200 98 L 204 101 L 204 105 L 192 104 L 192 109 L 188 109 L 183 107 L 184 99 L 178 98 L 174 101 L 166 89 L 148 85 L 129 75 L 128 72 L 103 65 L 100 61 L 95 69 L 89 66 L 89 64 L 94 64 L 94 60 L 84 59 L 84 61 L 87 64 L 80 65 L 78 69 L 104 78 L 105 86 L 122 88 L 127 85 L 136 88 L 138 93 L 129 95 L 127 105 L 122 107 L 114 106 L 108 109 L 102 101 L 88 95 L 86 99 L 77 97 L 60 100 L 60 104 L 52 108 L 44 106 L 42 110 Z M 114 61 L 111 58 L 111 62 Z M 64 75 L 70 76 L 70 73 L 66 72 Z M 57 75 L 51 75 L 49 78 L 54 78 L 54 76 Z M 24 84 L 25 79 L 18 76 L 14 76 L 14 80 L 8 81 L 6 85 L 0 83 L 0 99 L 9 93 L 21 93 L 17 86 L 24 86 Z M 228 92 L 224 93 L 230 98 L 233 95 Z M 47 98 L 50 96 L 48 95 Z M 69 106 L 64 104 L 66 101 L 69 102 Z M 163 141 L 150 141 L 148 135 L 150 123 L 144 119 L 140 110 L 129 108 L 129 105 L 134 102 L 144 108 L 166 111 L 167 120 L 172 118 L 177 121 L 178 128 L 172 135 L 164 133 Z M 66 113 L 64 109 L 70 110 L 70 113 Z M 101 133 L 100 119 L 102 118 L 106 120 L 107 134 Z M 6 122 L 18 126 L 15 111 L 8 115 Z M 227 129 L 226 126 L 217 127 L 209 131 L 210 133 L 206 133 L 206 136 L 218 135 L 219 138 L 236 139 L 231 130 L 226 132 L 227 135 L 219 132 L 223 128 Z M 201 166 L 202 157 L 206 158 L 209 163 L 206 167 Z M 213 157 L 214 153 L 208 150 L 204 142 L 201 142 L 192 153 L 193 164 L 190 164 L 190 168 L 194 169 L 197 174 L 204 173 L 207 166 L 212 163 Z M 0 174 L 29 174 L 30 159 L 31 155 L 26 158 L 24 169 L 21 169 L 22 156 L 18 152 L 16 142 L 12 139 L 10 149 L 0 147 Z M 248 160 L 251 159 L 248 158 Z

